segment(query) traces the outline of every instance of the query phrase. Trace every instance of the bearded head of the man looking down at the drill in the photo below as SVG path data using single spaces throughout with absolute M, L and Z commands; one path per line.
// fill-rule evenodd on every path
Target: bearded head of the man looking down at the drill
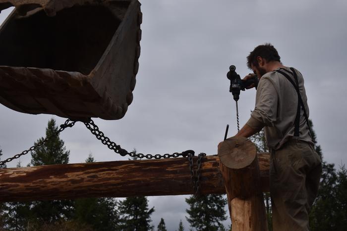
M 258 77 L 272 71 L 273 64 L 281 64 L 281 57 L 276 48 L 269 43 L 254 48 L 247 56 L 247 66 Z

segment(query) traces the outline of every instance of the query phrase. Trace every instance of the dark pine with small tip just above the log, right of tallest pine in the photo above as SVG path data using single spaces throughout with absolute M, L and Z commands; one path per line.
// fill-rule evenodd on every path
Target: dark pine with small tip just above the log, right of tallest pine
M 85 162 L 95 162 L 91 153 Z M 95 231 L 116 231 L 119 214 L 117 201 L 114 198 L 76 199 L 74 208 L 74 220 L 78 224 L 88 225 Z

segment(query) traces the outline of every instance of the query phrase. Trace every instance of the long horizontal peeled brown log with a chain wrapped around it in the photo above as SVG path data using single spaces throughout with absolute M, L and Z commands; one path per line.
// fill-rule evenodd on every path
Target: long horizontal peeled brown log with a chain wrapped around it
M 258 159 L 262 190 L 268 191 L 269 154 Z M 218 156 L 203 158 L 200 185 L 202 194 L 226 192 Z M 0 169 L 0 202 L 193 193 L 187 158 Z

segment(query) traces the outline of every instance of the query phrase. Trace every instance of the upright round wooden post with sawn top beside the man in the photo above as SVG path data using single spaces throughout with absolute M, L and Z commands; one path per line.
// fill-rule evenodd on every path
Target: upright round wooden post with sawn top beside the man
M 257 150 L 249 139 L 231 137 L 218 145 L 232 231 L 267 231 Z

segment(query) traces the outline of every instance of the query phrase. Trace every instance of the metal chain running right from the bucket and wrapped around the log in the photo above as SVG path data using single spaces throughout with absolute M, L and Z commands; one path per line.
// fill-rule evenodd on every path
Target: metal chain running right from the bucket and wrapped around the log
M 137 158 L 146 158 L 146 159 L 167 159 L 167 158 L 176 158 L 179 156 L 182 157 L 188 157 L 188 161 L 189 161 L 189 169 L 190 169 L 190 174 L 191 174 L 191 180 L 192 180 L 192 184 L 193 184 L 193 188 L 195 190 L 195 195 L 197 195 L 199 193 L 200 190 L 200 178 L 201 178 L 201 161 L 202 158 L 204 156 L 206 156 L 206 153 L 200 153 L 198 155 L 198 159 L 196 161 L 197 164 L 197 169 L 194 171 L 194 164 L 193 164 L 193 156 L 195 154 L 195 152 L 193 150 L 186 150 L 183 151 L 181 153 L 179 152 L 174 152 L 173 154 L 164 154 L 164 155 L 160 155 L 160 154 L 156 154 L 156 155 L 152 155 L 152 154 L 143 154 L 143 153 L 136 153 L 136 152 L 128 152 L 127 150 L 123 149 L 120 147 L 120 145 L 117 145 L 114 141 L 111 141 L 108 137 L 106 137 L 104 135 L 103 132 L 101 132 L 99 130 L 99 127 L 94 123 L 94 121 L 92 119 L 90 119 L 87 122 L 83 122 L 84 125 L 87 127 L 87 129 L 99 140 L 101 140 L 101 142 L 108 146 L 108 148 L 110 148 L 111 150 L 113 150 L 114 152 L 120 154 L 121 156 L 126 156 L 129 155 L 131 157 L 137 157 Z

